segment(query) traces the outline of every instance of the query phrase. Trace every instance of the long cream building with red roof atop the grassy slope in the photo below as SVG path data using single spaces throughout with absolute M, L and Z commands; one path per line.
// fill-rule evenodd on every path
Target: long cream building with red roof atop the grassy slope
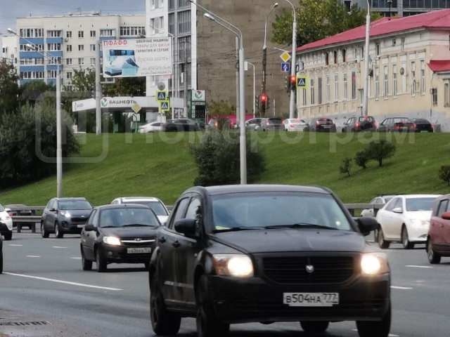
M 297 88 L 302 118 L 342 124 L 362 113 L 366 27 L 297 48 L 305 86 Z M 450 131 L 450 9 L 371 23 L 368 114 L 426 118 Z

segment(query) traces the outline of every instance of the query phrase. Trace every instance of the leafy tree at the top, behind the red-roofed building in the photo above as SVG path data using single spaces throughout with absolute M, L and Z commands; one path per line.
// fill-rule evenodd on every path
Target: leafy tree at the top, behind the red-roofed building
M 340 0 L 299 0 L 296 8 L 297 46 L 318 41 L 348 29 L 366 24 L 367 11 L 354 4 L 350 11 Z M 371 14 L 371 20 L 381 15 Z M 272 24 L 272 41 L 276 44 L 292 44 L 293 12 L 283 11 L 276 15 Z

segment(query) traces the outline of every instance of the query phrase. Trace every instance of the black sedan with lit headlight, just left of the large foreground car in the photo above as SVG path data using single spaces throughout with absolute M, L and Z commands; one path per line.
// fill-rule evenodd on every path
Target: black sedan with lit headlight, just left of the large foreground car
M 83 270 L 96 263 L 105 272 L 108 263 L 143 263 L 148 267 L 160 222 L 147 206 L 103 205 L 94 208 L 81 234 Z

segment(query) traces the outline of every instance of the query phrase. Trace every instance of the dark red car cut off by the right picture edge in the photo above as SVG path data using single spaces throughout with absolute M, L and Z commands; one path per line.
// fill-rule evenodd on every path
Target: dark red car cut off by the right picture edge
M 430 263 L 441 262 L 450 256 L 450 194 L 435 200 L 427 237 L 427 255 Z

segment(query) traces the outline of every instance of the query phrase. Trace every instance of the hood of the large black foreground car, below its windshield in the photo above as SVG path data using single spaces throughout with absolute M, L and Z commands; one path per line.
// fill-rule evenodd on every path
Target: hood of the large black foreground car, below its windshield
M 243 230 L 213 235 L 214 241 L 246 253 L 279 251 L 364 251 L 366 240 L 346 230 Z

